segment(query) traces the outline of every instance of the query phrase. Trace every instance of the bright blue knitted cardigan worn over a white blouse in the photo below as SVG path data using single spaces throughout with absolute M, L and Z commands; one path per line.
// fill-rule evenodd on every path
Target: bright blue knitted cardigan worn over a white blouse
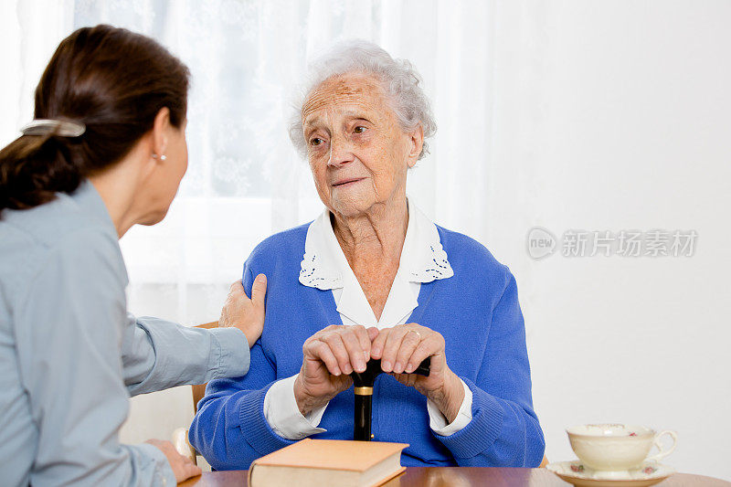
M 302 366 L 302 344 L 329 324 L 341 324 L 332 291 L 304 286 L 300 263 L 308 225 L 267 238 L 244 266 L 268 278 L 264 332 L 251 349 L 247 376 L 211 381 L 198 404 L 189 439 L 217 470 L 248 469 L 251 461 L 294 443 L 264 418 L 264 396 L 275 381 Z M 533 411 L 523 314 L 510 270 L 475 240 L 438 227 L 454 276 L 421 284 L 408 323 L 441 333 L 447 363 L 472 391 L 472 420 L 450 436 L 429 429 L 427 399 L 386 374 L 376 378 L 372 433 L 376 441 L 409 443 L 404 466 L 535 467 L 544 454 Z M 325 409 L 320 439 L 353 439 L 354 393 Z

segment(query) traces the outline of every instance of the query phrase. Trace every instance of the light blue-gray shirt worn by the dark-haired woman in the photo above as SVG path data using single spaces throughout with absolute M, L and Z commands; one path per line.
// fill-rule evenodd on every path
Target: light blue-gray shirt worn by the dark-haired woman
M 175 485 L 163 453 L 118 439 L 128 398 L 249 370 L 235 328 L 127 312 L 127 272 L 85 181 L 0 218 L 0 483 Z

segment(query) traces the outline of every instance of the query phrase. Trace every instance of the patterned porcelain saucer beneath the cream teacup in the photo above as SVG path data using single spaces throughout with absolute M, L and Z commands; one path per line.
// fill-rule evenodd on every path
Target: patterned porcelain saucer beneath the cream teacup
M 557 461 L 546 467 L 568 483 L 578 487 L 645 487 L 667 479 L 675 470 L 672 467 L 648 461 L 631 471 L 594 471 L 581 461 Z

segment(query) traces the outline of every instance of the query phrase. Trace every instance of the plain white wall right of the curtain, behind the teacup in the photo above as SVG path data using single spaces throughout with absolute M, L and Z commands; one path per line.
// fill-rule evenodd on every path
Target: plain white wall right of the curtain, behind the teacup
M 499 2 L 495 18 L 486 240 L 517 276 L 549 459 L 573 458 L 569 425 L 639 422 L 677 430 L 679 471 L 731 480 L 731 3 Z M 536 261 L 534 226 L 699 237 L 690 258 Z

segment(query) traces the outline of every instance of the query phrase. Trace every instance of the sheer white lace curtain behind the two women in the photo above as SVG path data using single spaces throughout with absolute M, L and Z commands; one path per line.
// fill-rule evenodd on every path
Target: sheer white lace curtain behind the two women
M 415 64 L 439 130 L 409 175 L 408 193 L 441 224 L 486 237 L 493 23 L 486 2 L 23 0 L 2 8 L 2 65 L 18 68 L 0 77 L 2 106 L 10 107 L 0 117 L 2 143 L 32 118 L 48 58 L 78 27 L 106 23 L 154 37 L 192 72 L 189 168 L 178 196 L 164 222 L 122 238 L 129 307 L 138 315 L 216 320 L 250 250 L 322 211 L 286 122 L 307 60 L 339 39 L 365 38 Z M 188 394 L 135 398 L 123 439 L 185 426 Z

